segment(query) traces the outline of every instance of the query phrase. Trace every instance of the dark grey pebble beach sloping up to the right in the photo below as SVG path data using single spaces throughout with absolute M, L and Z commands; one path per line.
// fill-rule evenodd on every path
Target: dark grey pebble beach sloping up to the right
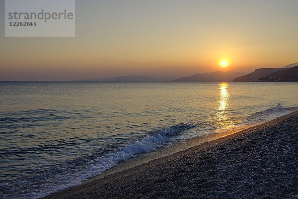
M 298 111 L 46 199 L 298 199 Z

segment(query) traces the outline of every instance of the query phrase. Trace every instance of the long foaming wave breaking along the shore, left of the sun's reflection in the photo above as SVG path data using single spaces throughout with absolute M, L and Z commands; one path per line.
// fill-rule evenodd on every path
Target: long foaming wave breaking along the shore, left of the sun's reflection
M 76 159 L 72 165 L 57 167 L 52 171 L 31 176 L 29 179 L 23 179 L 21 184 L 13 184 L 13 182 L 3 183 L 0 185 L 0 188 L 2 189 L 2 193 L 0 191 L 0 196 L 5 196 L 11 199 L 41 198 L 50 193 L 79 185 L 82 181 L 101 174 L 116 166 L 121 161 L 136 157 L 137 154 L 153 151 L 164 146 L 167 141 L 169 141 L 168 138 L 195 127 L 196 126 L 193 124 L 180 123 L 171 127 L 162 128 L 150 132 L 140 140 L 129 143 L 115 152 L 106 154 L 102 157 L 95 156 L 93 160 L 86 160 L 88 157 L 80 157 Z M 32 190 L 32 187 L 35 187 L 36 189 Z M 5 190 L 8 191 L 6 195 Z

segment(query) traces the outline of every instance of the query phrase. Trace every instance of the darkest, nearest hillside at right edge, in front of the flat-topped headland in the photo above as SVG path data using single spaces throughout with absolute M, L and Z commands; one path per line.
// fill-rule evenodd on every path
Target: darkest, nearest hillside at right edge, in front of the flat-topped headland
M 298 66 L 259 78 L 261 82 L 298 82 Z

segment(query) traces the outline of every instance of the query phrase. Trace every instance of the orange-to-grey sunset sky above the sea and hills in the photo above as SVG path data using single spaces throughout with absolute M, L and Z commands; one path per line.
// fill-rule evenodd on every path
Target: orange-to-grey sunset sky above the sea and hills
M 0 0 L 0 81 L 173 79 L 298 62 L 298 0 L 76 0 L 75 8 L 75 37 L 4 37 Z

